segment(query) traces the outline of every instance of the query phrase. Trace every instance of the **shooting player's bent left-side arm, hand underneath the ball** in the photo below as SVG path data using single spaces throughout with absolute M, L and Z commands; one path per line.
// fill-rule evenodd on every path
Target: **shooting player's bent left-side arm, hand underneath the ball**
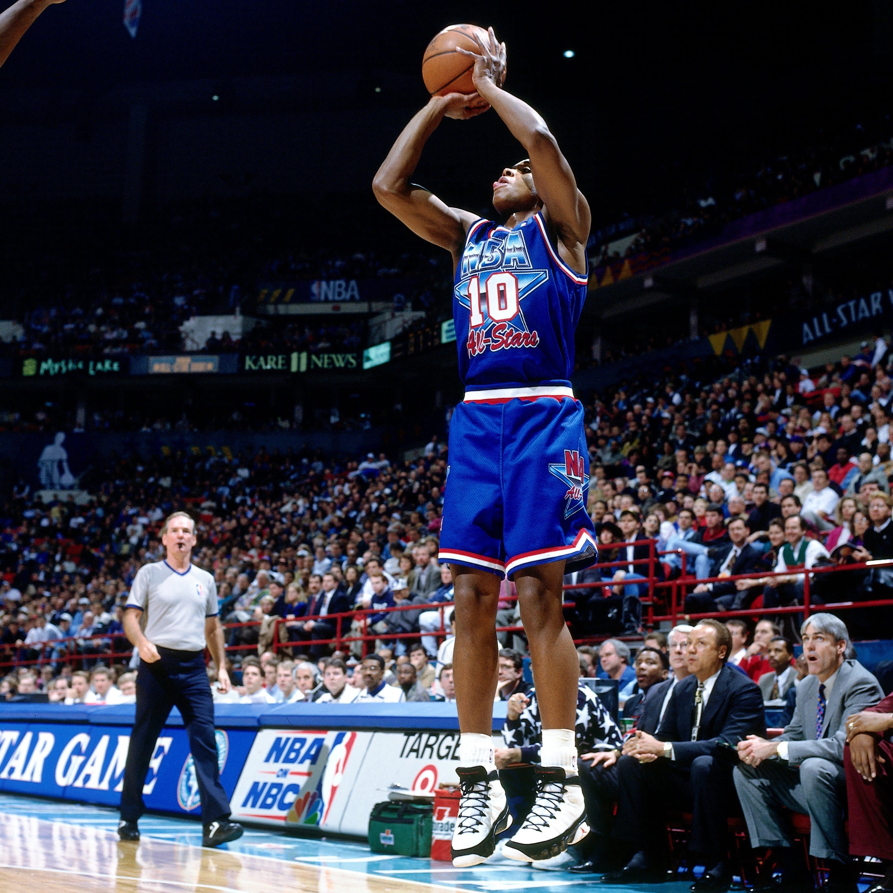
M 462 254 L 465 244 L 465 231 L 475 220 L 475 215 L 458 208 L 451 208 L 438 196 L 409 181 L 419 163 L 421 150 L 438 124 L 447 118 L 472 118 L 486 111 L 469 108 L 477 95 L 463 96 L 451 93 L 449 96 L 431 96 L 429 103 L 413 116 L 396 143 L 391 146 L 388 157 L 381 164 L 372 191 L 380 204 L 403 221 L 417 236 L 446 248 L 453 255 L 454 262 Z

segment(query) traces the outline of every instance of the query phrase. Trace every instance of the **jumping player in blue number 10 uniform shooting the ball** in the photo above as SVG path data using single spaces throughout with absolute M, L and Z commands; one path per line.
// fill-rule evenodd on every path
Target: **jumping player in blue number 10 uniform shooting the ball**
M 543 740 L 535 803 L 504 852 L 526 862 L 546 859 L 588 832 L 574 743 L 580 671 L 564 624 L 562 578 L 597 561 L 586 511 L 583 408 L 569 380 L 586 297 L 589 208 L 546 122 L 502 88 L 505 44 L 493 29 L 480 31 L 475 44 L 465 54 L 477 93 L 432 96 L 373 183 L 380 204 L 446 248 L 455 266 L 465 396 L 450 423 L 439 558 L 455 580 L 456 866 L 485 861 L 512 822 L 491 739 L 497 602 L 506 575 L 517 587 L 530 641 Z M 501 225 L 410 182 L 444 117 L 467 119 L 490 107 L 528 156 L 493 184 Z

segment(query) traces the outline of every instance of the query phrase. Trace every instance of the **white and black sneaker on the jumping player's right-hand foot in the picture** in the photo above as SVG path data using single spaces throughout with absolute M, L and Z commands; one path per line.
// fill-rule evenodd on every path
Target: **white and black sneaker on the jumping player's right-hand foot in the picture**
M 538 766 L 537 797 L 530 814 L 503 855 L 521 862 L 551 859 L 589 833 L 580 776 L 566 777 L 561 768 Z

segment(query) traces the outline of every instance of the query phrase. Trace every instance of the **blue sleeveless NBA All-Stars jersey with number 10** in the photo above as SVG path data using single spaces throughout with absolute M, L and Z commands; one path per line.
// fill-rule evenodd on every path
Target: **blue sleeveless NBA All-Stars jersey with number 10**
M 549 241 L 542 213 L 513 230 L 474 222 L 453 289 L 463 384 L 570 379 L 586 288 Z

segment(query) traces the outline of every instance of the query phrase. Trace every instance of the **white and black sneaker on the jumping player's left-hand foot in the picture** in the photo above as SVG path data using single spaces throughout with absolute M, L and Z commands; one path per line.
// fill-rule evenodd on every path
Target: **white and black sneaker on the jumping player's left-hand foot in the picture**
M 459 768 L 459 815 L 450 850 L 456 868 L 480 865 L 496 849 L 496 837 L 512 823 L 497 772 L 483 766 Z

